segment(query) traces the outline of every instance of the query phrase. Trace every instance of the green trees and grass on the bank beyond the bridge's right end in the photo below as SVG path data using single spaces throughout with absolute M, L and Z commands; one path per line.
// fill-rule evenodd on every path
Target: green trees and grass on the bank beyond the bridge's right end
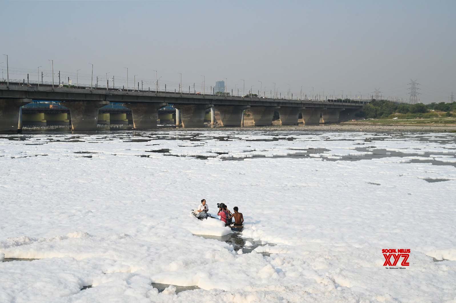
M 430 104 L 397 104 L 387 100 L 374 100 L 366 104 L 358 117 L 365 118 L 438 118 L 456 117 L 456 102 L 453 103 L 430 103 Z M 440 113 L 439 113 L 440 112 Z M 443 113 L 442 113 L 443 112 Z

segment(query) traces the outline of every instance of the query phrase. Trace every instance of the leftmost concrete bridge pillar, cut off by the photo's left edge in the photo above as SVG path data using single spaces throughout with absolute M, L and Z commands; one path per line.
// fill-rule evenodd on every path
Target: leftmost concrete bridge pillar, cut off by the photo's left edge
M 17 132 L 22 128 L 21 106 L 27 103 L 31 99 L 0 99 L 0 132 Z

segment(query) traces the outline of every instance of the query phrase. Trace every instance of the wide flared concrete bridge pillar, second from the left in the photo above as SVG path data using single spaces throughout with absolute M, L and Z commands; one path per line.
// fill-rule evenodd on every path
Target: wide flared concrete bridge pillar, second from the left
M 98 109 L 109 104 L 109 101 L 63 101 L 60 104 L 70 109 L 73 130 L 95 130 Z

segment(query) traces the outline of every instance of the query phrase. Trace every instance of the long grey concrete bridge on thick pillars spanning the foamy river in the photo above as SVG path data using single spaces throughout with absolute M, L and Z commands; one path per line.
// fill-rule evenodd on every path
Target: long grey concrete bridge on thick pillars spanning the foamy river
M 70 111 L 74 130 L 96 129 L 99 108 L 106 104 L 123 103 L 130 108 L 135 128 L 155 128 L 158 110 L 172 104 L 176 108 L 176 124 L 199 128 L 204 116 L 211 110 L 211 123 L 215 112 L 221 126 L 241 126 L 244 110 L 248 109 L 254 126 L 272 125 L 274 112 L 278 112 L 281 125 L 297 125 L 301 113 L 305 125 L 338 123 L 354 118 L 367 101 L 325 102 L 259 97 L 202 95 L 182 92 L 150 92 L 107 90 L 100 88 L 27 86 L 20 83 L 0 83 L 0 131 L 16 131 L 21 106 L 32 100 L 58 101 Z

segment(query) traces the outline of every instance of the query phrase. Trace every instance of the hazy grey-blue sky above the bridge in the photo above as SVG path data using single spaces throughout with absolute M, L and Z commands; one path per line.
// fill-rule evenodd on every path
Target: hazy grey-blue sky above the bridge
M 154 87 L 184 89 L 201 75 L 206 90 L 228 78 L 228 90 L 266 87 L 299 95 L 363 97 L 380 88 L 406 98 L 417 79 L 422 102 L 456 93 L 456 0 L 448 1 L 0 1 L 0 53 L 10 78 L 37 67 L 76 82 L 133 76 Z M 5 56 L 0 62 L 5 62 Z M 0 64 L 6 77 L 6 63 Z M 57 78 L 56 78 L 57 81 Z M 105 83 L 106 80 L 100 80 Z M 100 84 L 101 84 L 100 83 Z M 193 89 L 193 88 L 192 88 Z

